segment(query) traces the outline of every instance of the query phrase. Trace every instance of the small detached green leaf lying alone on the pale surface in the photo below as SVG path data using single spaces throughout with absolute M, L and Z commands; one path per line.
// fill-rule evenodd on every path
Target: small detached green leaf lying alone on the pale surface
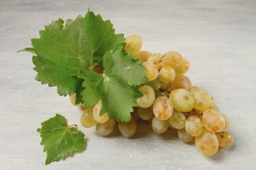
M 56 114 L 41 125 L 42 128 L 37 131 L 42 138 L 43 151 L 47 152 L 46 165 L 85 150 L 85 134 L 78 128 L 68 126 L 61 114 Z

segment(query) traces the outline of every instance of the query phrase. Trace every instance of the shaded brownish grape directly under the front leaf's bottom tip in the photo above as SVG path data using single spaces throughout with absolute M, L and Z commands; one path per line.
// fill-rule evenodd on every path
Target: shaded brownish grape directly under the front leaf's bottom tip
M 118 122 L 118 128 L 124 137 L 131 138 L 136 133 L 137 122 L 131 116 L 130 122 Z

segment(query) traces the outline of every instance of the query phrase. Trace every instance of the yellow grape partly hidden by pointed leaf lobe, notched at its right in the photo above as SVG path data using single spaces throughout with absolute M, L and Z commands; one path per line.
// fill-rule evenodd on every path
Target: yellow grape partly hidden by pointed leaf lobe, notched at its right
M 103 124 L 106 121 L 109 121 L 109 114 L 106 112 L 101 116 L 100 110 L 102 110 L 102 100 L 99 100 L 99 102 L 93 107 L 93 117 L 99 124 Z

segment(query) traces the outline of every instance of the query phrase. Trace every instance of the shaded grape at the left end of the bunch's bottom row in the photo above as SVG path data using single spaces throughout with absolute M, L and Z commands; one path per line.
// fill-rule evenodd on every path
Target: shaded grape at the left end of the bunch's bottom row
M 116 126 L 116 121 L 114 119 L 110 119 L 103 124 L 96 124 L 96 133 L 99 136 L 106 136 L 114 131 Z

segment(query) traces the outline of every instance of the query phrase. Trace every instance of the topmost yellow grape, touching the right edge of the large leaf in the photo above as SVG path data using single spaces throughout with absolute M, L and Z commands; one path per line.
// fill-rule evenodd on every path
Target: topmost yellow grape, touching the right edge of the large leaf
M 125 39 L 125 42 L 126 42 L 126 46 L 124 50 L 126 50 L 127 53 L 132 53 L 133 56 L 135 56 L 137 53 L 140 52 L 140 49 L 142 47 L 141 36 L 136 34 L 127 36 Z

